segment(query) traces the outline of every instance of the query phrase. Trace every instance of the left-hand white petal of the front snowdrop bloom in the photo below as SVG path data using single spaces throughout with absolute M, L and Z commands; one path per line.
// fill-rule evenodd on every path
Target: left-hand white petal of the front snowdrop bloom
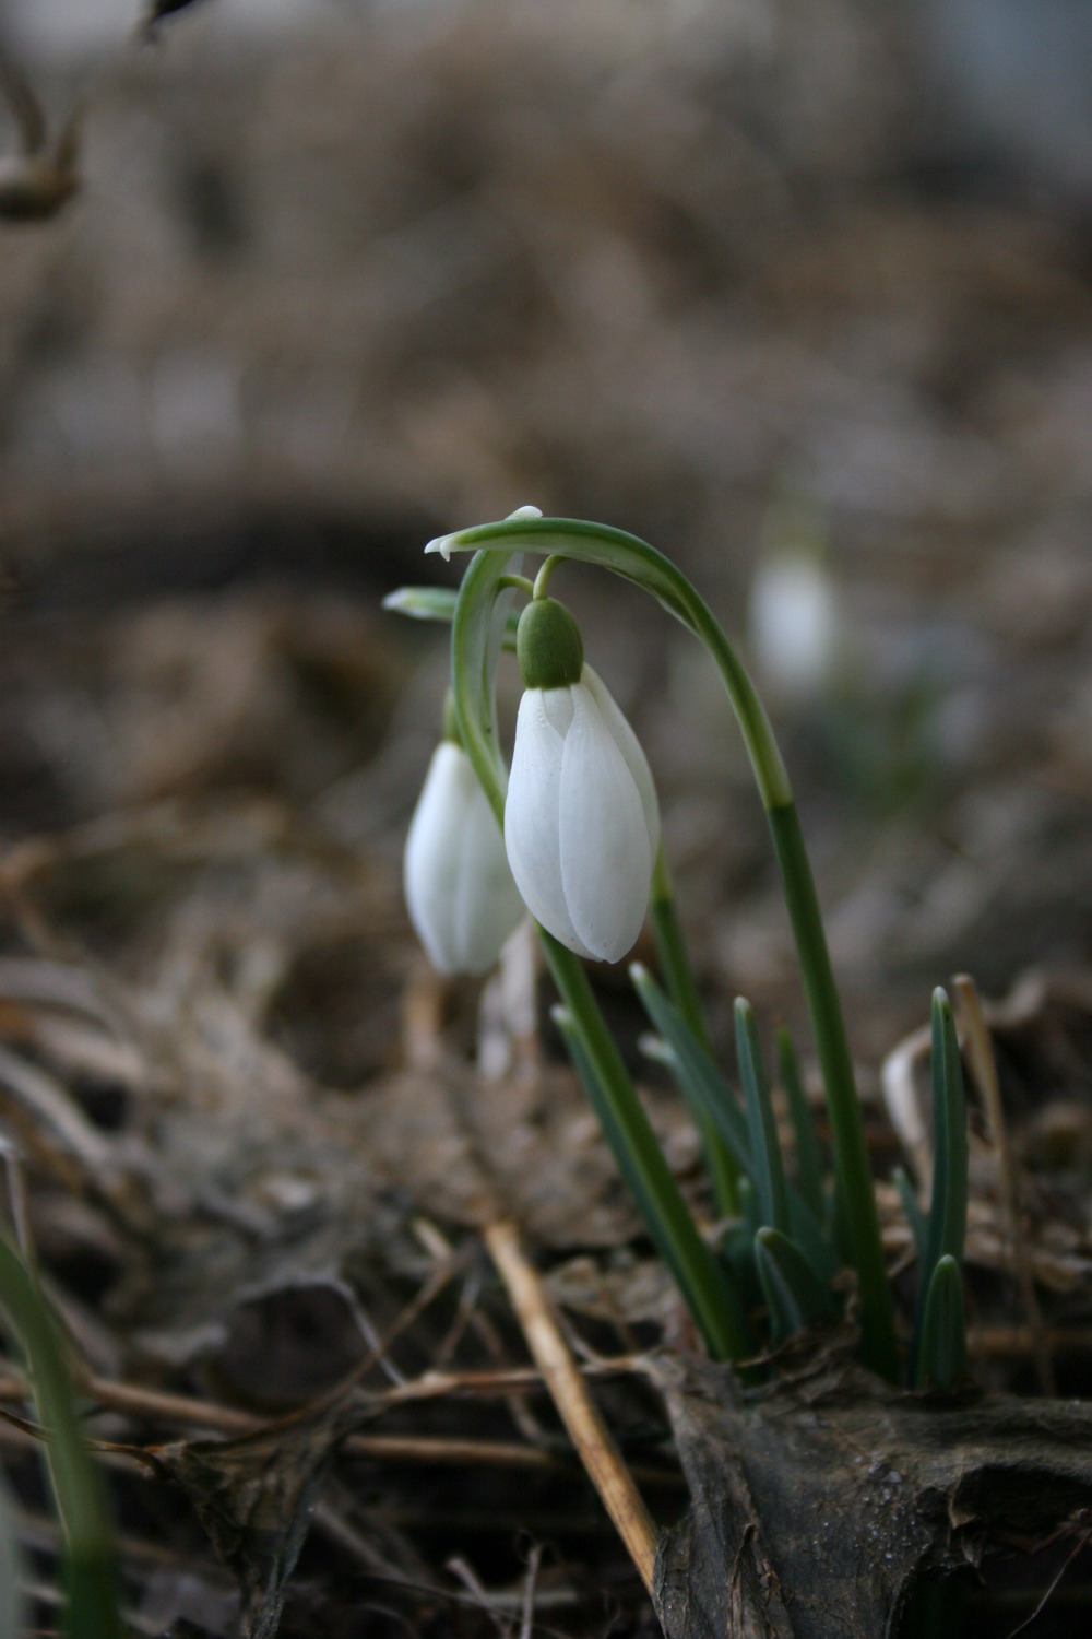
M 558 695 L 568 690 L 548 690 L 548 693 Z M 565 741 L 550 724 L 544 690 L 527 688 L 516 720 L 516 749 L 504 806 L 504 846 L 516 887 L 530 915 L 570 951 L 591 956 L 576 934 L 562 885 L 558 823 L 563 749 Z

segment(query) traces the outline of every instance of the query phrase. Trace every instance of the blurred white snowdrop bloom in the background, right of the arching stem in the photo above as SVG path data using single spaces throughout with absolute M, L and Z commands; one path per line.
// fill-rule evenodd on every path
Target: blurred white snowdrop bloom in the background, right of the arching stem
M 838 661 L 838 603 L 810 552 L 768 551 L 750 597 L 750 636 L 766 680 L 796 700 L 820 693 Z

